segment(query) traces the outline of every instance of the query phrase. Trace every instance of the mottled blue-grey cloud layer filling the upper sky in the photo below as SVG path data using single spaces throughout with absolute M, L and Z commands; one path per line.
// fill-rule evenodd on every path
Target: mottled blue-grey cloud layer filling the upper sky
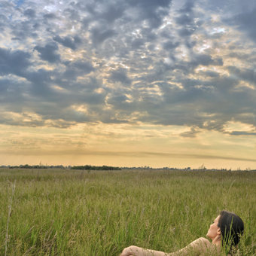
M 184 138 L 229 120 L 256 126 L 254 3 L 235 3 L 2 1 L 0 111 L 63 127 L 192 127 Z

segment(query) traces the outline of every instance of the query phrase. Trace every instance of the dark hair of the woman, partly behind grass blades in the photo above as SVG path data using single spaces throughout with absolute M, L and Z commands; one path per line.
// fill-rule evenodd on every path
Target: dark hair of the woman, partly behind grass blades
M 218 227 L 221 228 L 222 242 L 230 248 L 239 243 L 244 230 L 242 219 L 233 212 L 221 211 L 218 219 Z

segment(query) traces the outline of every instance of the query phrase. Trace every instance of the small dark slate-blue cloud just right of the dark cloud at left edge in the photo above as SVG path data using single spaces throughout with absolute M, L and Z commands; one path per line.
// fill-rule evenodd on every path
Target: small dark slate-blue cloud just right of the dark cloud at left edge
M 47 62 L 55 63 L 60 61 L 60 55 L 56 53 L 56 51 L 59 50 L 59 47 L 54 42 L 48 43 L 43 47 L 36 46 L 34 49 L 38 51 L 41 59 L 46 60 Z

